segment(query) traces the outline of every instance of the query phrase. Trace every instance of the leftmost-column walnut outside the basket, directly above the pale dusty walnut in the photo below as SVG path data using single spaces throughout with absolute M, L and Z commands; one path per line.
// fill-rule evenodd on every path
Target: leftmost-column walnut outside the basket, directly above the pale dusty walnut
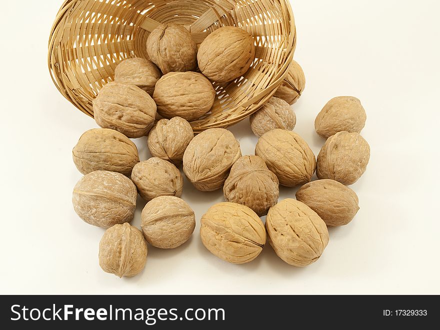
M 136 145 L 130 139 L 122 133 L 103 128 L 82 134 L 72 156 L 82 174 L 111 171 L 129 176 L 139 162 Z

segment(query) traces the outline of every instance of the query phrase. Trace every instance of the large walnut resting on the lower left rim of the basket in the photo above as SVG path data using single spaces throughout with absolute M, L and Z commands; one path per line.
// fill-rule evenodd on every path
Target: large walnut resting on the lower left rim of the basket
M 108 83 L 93 100 L 93 114 L 100 127 L 134 139 L 148 134 L 154 124 L 156 104 L 137 86 Z

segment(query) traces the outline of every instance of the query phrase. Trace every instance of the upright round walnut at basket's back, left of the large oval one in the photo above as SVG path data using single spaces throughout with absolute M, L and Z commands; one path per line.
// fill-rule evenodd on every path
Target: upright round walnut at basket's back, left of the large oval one
M 197 67 L 197 45 L 181 25 L 159 25 L 148 36 L 146 50 L 163 74 L 192 71 Z

